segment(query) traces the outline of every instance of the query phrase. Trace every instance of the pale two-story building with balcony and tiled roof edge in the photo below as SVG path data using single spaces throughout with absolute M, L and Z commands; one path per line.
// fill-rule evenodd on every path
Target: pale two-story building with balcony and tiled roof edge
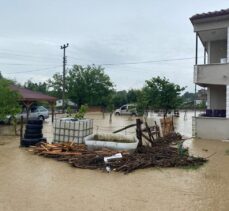
M 229 9 L 197 14 L 190 20 L 196 33 L 194 83 L 207 89 L 207 109 L 195 114 L 193 135 L 229 139 Z M 198 54 L 198 43 L 204 55 Z

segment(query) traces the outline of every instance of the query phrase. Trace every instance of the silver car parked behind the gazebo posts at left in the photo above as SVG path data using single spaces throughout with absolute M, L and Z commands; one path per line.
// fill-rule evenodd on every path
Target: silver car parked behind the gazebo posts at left
M 20 120 L 22 116 L 24 119 L 26 119 L 27 117 L 26 109 L 23 109 L 21 113 L 17 114 L 16 119 Z M 29 120 L 39 119 L 44 121 L 48 117 L 49 117 L 49 111 L 43 106 L 34 106 L 29 111 Z M 12 121 L 12 116 L 7 116 L 5 122 L 10 124 L 11 121 Z

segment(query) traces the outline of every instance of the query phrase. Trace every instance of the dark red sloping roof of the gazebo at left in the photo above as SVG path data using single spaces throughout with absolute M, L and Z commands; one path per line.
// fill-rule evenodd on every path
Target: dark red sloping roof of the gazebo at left
M 10 87 L 12 90 L 18 92 L 21 95 L 23 101 L 56 101 L 55 97 L 51 97 L 40 92 L 35 92 L 16 85 L 11 85 Z

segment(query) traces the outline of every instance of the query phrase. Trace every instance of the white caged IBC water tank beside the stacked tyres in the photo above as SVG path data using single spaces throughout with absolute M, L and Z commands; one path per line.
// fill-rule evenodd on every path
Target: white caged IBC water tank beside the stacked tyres
M 54 123 L 53 142 L 83 143 L 84 137 L 93 133 L 92 119 L 62 118 Z

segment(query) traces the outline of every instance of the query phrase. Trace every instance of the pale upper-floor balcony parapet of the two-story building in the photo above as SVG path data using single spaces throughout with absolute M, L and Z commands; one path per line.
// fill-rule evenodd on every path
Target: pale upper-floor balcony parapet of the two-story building
M 229 85 L 229 63 L 195 65 L 194 83 L 200 86 Z

